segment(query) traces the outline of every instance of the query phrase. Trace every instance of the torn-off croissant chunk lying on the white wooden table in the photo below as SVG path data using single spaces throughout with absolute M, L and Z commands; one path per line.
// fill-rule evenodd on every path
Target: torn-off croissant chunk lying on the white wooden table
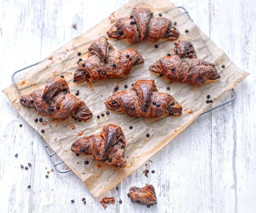
M 130 200 L 134 203 L 138 203 L 141 205 L 157 204 L 155 188 L 151 184 L 146 183 L 146 186 L 142 188 L 133 186 L 130 188 L 129 194 Z

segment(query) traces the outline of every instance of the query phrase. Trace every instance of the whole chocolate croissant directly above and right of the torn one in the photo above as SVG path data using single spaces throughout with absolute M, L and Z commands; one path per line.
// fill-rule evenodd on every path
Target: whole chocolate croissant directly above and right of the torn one
M 139 80 L 131 90 L 110 96 L 105 105 L 112 111 L 123 111 L 130 117 L 160 117 L 166 113 L 180 116 L 182 106 L 167 93 L 160 93 L 154 81 Z

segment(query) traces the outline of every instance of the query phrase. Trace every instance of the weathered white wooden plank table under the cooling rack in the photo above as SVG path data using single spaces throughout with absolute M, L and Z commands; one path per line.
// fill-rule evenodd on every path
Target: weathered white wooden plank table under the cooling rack
M 126 2 L 0 0 L 1 89 L 11 84 L 13 71 L 44 59 Z M 197 118 L 151 158 L 153 163 L 107 192 L 117 202 L 105 212 L 256 212 L 255 0 L 173 3 L 187 8 L 202 31 L 251 75 L 236 86 L 235 102 Z M 103 196 L 94 198 L 74 173 L 54 171 L 45 178 L 53 166 L 39 135 L 2 92 L 0 97 L 0 212 L 103 212 L 98 203 Z M 29 162 L 28 170 L 20 168 Z M 144 169 L 156 173 L 147 178 Z M 157 192 L 158 204 L 150 209 L 127 197 L 131 186 L 145 183 Z

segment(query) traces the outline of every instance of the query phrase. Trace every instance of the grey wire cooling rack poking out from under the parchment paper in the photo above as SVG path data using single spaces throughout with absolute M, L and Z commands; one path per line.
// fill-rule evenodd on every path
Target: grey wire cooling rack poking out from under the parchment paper
M 183 10 L 183 13 L 186 14 L 186 15 L 188 16 L 188 18 L 189 18 L 191 21 L 193 21 L 192 18 L 191 18 L 191 16 L 189 15 L 189 12 L 188 12 L 184 7 L 179 6 L 178 8 L 181 9 L 181 10 Z M 39 62 L 40 62 L 40 61 L 39 61 Z M 12 74 L 12 82 L 14 82 L 14 76 L 15 76 L 16 73 L 18 73 L 18 72 L 20 72 L 20 71 L 22 71 L 22 70 L 28 69 L 28 68 L 30 68 L 30 67 L 33 67 L 33 66 L 37 65 L 39 62 L 34 63 L 34 64 L 31 64 L 31 65 L 29 65 L 29 66 L 27 66 L 27 67 L 24 67 L 24 68 L 22 68 L 22 69 L 20 69 L 20 70 L 15 71 L 15 72 Z M 212 107 L 212 108 L 210 108 L 210 109 L 204 111 L 204 112 L 203 112 L 202 114 L 200 114 L 199 116 L 201 116 L 201 115 L 203 115 L 203 114 L 206 114 L 206 113 L 208 113 L 208 112 L 211 112 L 211 111 L 213 111 L 214 109 L 217 109 L 217 108 L 219 108 L 219 107 L 222 107 L 222 106 L 224 106 L 224 105 L 226 105 L 226 104 L 228 104 L 228 103 L 234 101 L 234 100 L 236 99 L 236 91 L 235 91 L 234 89 L 232 89 L 232 90 L 230 90 L 230 92 L 231 92 L 231 98 L 230 98 L 230 100 L 225 101 L 225 102 L 223 102 L 223 103 L 221 103 L 221 104 L 219 104 L 219 105 L 217 105 L 217 106 L 215 106 L 215 107 Z M 49 145 L 45 143 L 45 141 L 44 141 L 44 139 L 42 138 L 42 136 L 40 136 L 40 137 L 41 137 L 41 140 L 42 140 L 42 142 L 43 142 L 43 145 L 44 145 L 44 147 L 45 147 L 45 149 L 46 149 L 46 151 L 47 151 L 47 154 L 49 155 L 49 157 L 50 157 L 50 159 L 51 159 L 51 162 L 52 162 L 52 164 L 53 164 L 55 170 L 56 170 L 57 172 L 59 172 L 59 173 L 67 173 L 67 172 L 70 172 L 71 169 L 61 170 L 61 169 L 59 169 L 59 168 L 57 167 L 58 165 L 64 163 L 64 161 L 59 161 L 59 162 L 55 163 L 55 160 L 53 159 L 53 156 L 56 155 L 56 152 L 50 151 L 50 150 L 49 150 Z

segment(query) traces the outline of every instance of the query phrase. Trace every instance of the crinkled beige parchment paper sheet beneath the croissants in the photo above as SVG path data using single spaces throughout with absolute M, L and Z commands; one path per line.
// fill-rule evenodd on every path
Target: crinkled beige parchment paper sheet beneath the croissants
M 163 17 L 167 17 L 173 22 L 176 21 L 177 28 L 181 33 L 180 39 L 191 41 L 196 49 L 198 58 L 214 63 L 220 71 L 221 78 L 199 87 L 185 83 L 168 83 L 165 77 L 159 77 L 159 75 L 152 73 L 149 70 L 149 65 L 159 60 L 160 57 L 166 56 L 168 52 L 170 53 L 174 47 L 173 42 L 159 41 L 157 42 L 159 48 L 156 49 L 154 47 L 156 43 L 148 41 L 131 45 L 124 39 L 119 41 L 108 39 L 116 49 L 138 49 L 145 63 L 135 66 L 129 77 L 122 79 L 92 82 L 91 85 L 87 83 L 73 83 L 73 74 L 78 58 L 86 59 L 87 49 L 91 41 L 95 38 L 106 36 L 106 31 L 111 26 L 110 19 L 129 16 L 132 8 L 140 6 L 150 8 L 156 16 L 161 12 Z M 188 33 L 185 33 L 186 29 L 189 30 Z M 78 51 L 82 53 L 81 56 L 77 56 L 76 53 Z M 119 183 L 184 130 L 198 115 L 210 106 L 205 102 L 208 94 L 211 95 L 211 99 L 216 100 L 248 75 L 248 73 L 243 72 L 231 62 L 219 47 L 168 0 L 130 1 L 92 29 L 59 48 L 51 56 L 53 56 L 52 60 L 46 58 L 3 92 L 19 114 L 42 135 L 46 143 L 83 181 L 95 197 L 98 197 Z M 224 69 L 221 68 L 222 64 L 225 64 Z M 21 95 L 28 94 L 38 88 L 44 88 L 46 81 L 55 75 L 65 76 L 71 93 L 74 94 L 79 89 L 78 97 L 92 111 L 93 118 L 87 122 L 78 122 L 71 118 L 59 121 L 48 116 L 38 115 L 34 109 L 27 109 L 21 106 L 19 103 Z M 146 117 L 129 118 L 124 113 L 110 111 L 109 115 L 105 114 L 104 117 L 96 118 L 97 115 L 106 112 L 107 108 L 104 105 L 104 101 L 112 94 L 117 84 L 120 86 L 118 91 L 124 90 L 125 84 L 128 85 L 128 90 L 132 87 L 132 83 L 143 79 L 155 80 L 160 92 L 173 95 L 183 106 L 182 116 L 162 116 L 157 119 Z M 171 87 L 170 90 L 166 89 L 168 85 Z M 192 110 L 192 113 L 188 113 L 190 110 Z M 39 117 L 48 121 L 48 124 L 43 126 L 40 122 L 35 123 L 34 119 Z M 71 144 L 77 138 L 99 134 L 102 126 L 110 123 L 121 126 L 125 134 L 126 168 L 116 169 L 102 162 L 95 161 L 91 156 L 80 155 L 77 157 L 70 151 Z M 129 129 L 130 125 L 133 125 L 132 130 Z M 41 129 L 44 129 L 45 133 L 41 133 Z M 150 133 L 149 138 L 146 137 L 146 133 Z M 89 164 L 85 165 L 84 160 L 88 160 Z M 77 161 L 80 163 L 77 164 Z

